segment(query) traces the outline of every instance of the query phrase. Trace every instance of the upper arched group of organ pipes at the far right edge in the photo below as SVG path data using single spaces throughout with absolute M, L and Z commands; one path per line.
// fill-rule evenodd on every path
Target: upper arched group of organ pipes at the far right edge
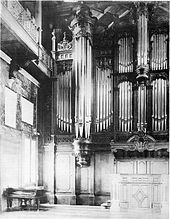
M 152 70 L 167 69 L 167 34 L 153 34 L 151 37 L 151 63 Z

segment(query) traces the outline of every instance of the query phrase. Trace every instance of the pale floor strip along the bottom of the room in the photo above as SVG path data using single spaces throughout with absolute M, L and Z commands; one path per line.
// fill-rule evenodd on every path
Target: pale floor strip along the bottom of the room
M 9 211 L 0 213 L 0 218 L 8 219 L 168 219 L 165 212 L 151 210 L 132 212 L 111 212 L 100 206 L 43 205 L 39 211 Z

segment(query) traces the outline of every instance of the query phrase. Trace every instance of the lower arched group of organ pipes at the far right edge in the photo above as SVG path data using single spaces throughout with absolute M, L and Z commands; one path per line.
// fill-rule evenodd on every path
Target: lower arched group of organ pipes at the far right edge
M 152 129 L 167 130 L 167 81 L 159 78 L 152 82 Z

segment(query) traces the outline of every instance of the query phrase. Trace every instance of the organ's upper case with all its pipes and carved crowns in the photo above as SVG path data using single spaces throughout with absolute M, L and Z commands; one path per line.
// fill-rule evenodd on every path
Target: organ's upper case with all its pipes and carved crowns
M 105 132 L 113 151 L 119 142 L 144 151 L 168 135 L 168 27 L 152 25 L 147 4 L 136 6 L 135 19 L 95 38 L 89 8 L 75 15 L 72 41 L 58 43 L 60 133 L 93 141 Z

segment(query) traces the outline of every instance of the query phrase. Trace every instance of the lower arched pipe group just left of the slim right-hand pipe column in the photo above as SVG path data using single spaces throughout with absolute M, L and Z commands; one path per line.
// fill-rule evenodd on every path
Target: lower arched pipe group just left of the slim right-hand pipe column
M 119 84 L 119 131 L 132 131 L 132 82 Z

